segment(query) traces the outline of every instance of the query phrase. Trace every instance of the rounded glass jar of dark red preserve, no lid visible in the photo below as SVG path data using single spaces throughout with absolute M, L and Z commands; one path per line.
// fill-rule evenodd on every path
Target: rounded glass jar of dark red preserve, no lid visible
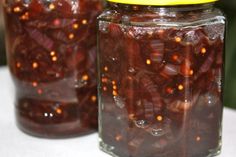
M 96 18 L 101 0 L 4 0 L 16 118 L 31 135 L 97 129 Z

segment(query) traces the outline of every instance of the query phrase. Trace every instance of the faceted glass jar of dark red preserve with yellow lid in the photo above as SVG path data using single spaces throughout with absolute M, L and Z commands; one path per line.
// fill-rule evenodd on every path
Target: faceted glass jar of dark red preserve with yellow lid
M 220 153 L 226 19 L 215 1 L 108 0 L 98 19 L 103 151 Z

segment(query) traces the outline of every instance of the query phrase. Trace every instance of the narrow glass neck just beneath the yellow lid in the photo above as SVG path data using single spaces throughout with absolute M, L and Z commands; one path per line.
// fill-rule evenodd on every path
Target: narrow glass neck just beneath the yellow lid
M 180 6 L 143 6 L 108 2 L 108 7 L 122 12 L 158 12 L 158 13 L 188 13 L 188 12 L 212 12 L 215 3 Z

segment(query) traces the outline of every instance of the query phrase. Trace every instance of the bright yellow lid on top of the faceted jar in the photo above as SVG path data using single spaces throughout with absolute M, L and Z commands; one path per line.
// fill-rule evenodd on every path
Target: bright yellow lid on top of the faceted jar
M 113 3 L 151 6 L 179 6 L 214 3 L 218 0 L 108 0 Z

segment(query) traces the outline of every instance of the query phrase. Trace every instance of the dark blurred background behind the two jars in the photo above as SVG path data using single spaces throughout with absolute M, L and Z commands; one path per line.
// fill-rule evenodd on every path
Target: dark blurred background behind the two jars
M 236 109 L 236 1 L 221 0 L 217 3 L 228 18 L 226 42 L 225 106 Z M 0 7 L 0 66 L 6 65 L 2 8 Z

